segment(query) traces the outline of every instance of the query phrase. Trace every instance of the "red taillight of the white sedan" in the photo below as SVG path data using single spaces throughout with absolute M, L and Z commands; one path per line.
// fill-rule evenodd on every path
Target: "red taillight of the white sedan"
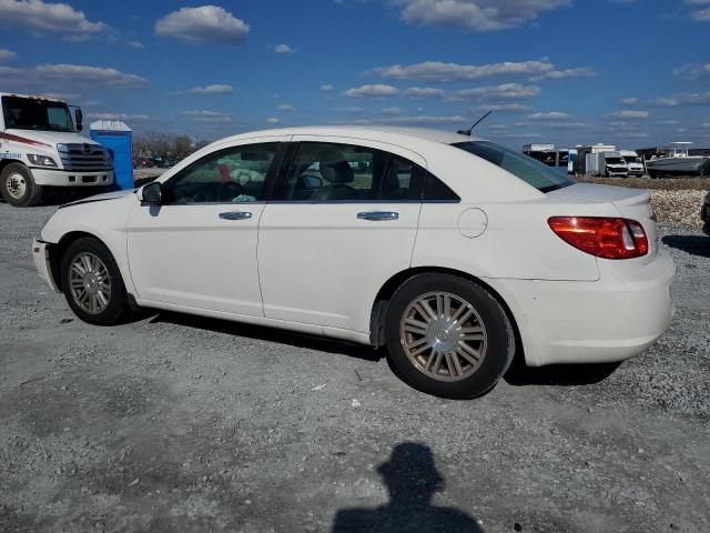
M 547 223 L 565 242 L 597 258 L 631 259 L 648 253 L 648 237 L 636 220 L 552 217 Z

